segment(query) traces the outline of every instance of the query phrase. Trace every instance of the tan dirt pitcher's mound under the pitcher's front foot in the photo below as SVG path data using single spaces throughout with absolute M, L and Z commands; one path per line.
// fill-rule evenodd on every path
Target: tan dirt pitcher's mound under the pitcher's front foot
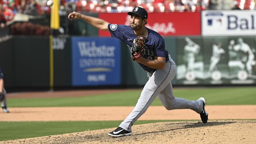
M 159 122 L 134 125 L 133 134 L 112 138 L 114 130 L 100 129 L 78 133 L 2 141 L 5 144 L 253 144 L 256 142 L 256 121 Z

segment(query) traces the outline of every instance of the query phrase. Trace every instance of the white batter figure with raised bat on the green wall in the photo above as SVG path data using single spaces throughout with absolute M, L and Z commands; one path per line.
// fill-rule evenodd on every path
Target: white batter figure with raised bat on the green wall
M 190 38 L 185 37 L 187 42 L 184 47 L 184 59 L 187 62 L 187 71 L 193 71 L 195 65 L 195 56 L 200 52 L 200 46 L 194 43 Z

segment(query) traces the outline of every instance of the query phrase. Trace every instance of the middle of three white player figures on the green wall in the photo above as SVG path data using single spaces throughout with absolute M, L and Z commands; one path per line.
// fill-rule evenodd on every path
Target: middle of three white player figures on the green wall
M 220 61 L 222 54 L 225 54 L 225 50 L 222 48 L 222 43 L 218 43 L 218 45 L 213 44 L 212 57 L 210 58 L 209 73 L 212 73 L 213 69 L 216 68 L 216 65 Z

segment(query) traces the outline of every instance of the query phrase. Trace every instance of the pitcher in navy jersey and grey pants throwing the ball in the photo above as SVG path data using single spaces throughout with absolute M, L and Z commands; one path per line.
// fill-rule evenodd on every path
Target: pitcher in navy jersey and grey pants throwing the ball
M 128 15 L 131 16 L 129 26 L 109 23 L 78 12 L 71 12 L 68 15 L 70 20 L 81 18 L 100 30 L 109 31 L 112 37 L 122 40 L 130 49 L 134 49 L 137 36 L 143 36 L 147 39 L 142 44 L 145 46 L 143 52 L 132 53 L 132 57 L 134 56 L 133 60 L 148 73 L 149 80 L 146 82 L 133 111 L 118 128 L 108 135 L 113 137 L 132 135 L 133 123 L 146 112 L 156 97 L 167 110 L 191 109 L 200 113 L 203 123 L 206 123 L 208 113 L 205 110 L 206 100 L 204 98 L 190 101 L 174 97 L 171 80 L 176 75 L 176 64 L 165 50 L 165 42 L 160 34 L 145 27 L 148 19 L 146 10 L 135 7 L 132 12 L 128 12 Z

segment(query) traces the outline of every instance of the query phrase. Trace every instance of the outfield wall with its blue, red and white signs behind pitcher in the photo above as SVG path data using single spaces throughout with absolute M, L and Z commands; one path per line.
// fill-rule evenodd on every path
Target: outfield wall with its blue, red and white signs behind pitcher
M 90 15 L 129 24 L 126 13 Z M 246 10 L 150 13 L 147 26 L 164 37 L 177 64 L 172 84 L 255 85 L 255 20 L 253 11 Z M 13 36 L 1 42 L 5 86 L 49 87 L 51 81 L 54 87 L 145 84 L 146 73 L 130 60 L 126 44 L 85 21 L 70 23 L 72 33 L 83 36 L 54 36 L 53 59 L 49 37 Z

